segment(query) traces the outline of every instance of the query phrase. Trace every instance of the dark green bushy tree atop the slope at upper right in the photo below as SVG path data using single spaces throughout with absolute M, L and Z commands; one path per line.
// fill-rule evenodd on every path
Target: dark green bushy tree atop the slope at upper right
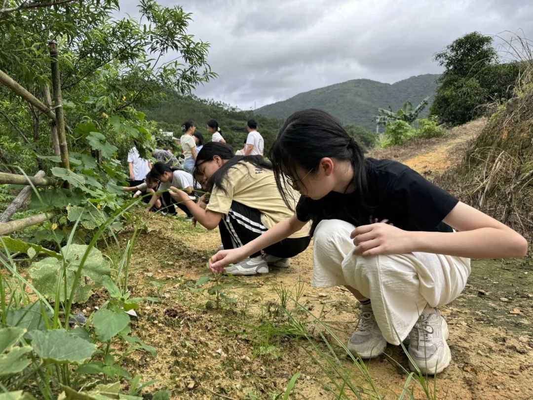
M 478 32 L 466 34 L 435 54 L 445 68 L 438 79 L 431 114 L 441 122 L 464 124 L 483 114 L 483 105 L 512 95 L 518 63 L 498 63 L 492 38 Z

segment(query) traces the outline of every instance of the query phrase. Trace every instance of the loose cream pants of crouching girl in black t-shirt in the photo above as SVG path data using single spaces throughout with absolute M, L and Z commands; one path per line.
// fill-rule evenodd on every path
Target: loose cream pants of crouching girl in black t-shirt
M 432 253 L 361 257 L 346 221 L 322 220 L 314 232 L 312 286 L 351 286 L 372 301 L 383 337 L 405 339 L 426 305 L 439 307 L 458 297 L 470 274 L 470 259 Z

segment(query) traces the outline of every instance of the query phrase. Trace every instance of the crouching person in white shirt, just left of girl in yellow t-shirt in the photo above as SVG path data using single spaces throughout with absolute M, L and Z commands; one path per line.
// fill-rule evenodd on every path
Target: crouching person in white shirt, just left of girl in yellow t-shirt
M 195 185 L 195 180 L 192 177 L 192 174 L 185 170 L 171 168 L 165 163 L 157 162 L 152 167 L 148 176 L 153 180 L 161 182 L 161 185 L 150 199 L 150 203 L 148 203 L 146 207 L 147 210 L 150 210 L 156 204 L 157 200 L 162 197 L 163 203 L 166 206 L 166 212 L 175 214 L 176 209 L 174 208 L 174 204 L 176 204 L 176 206 L 183 210 L 189 218 L 192 217 L 189 209 L 181 202 L 176 203 L 168 193 L 168 189 L 171 187 L 179 188 L 188 193 L 189 198 L 192 201 L 195 201 L 196 194 L 193 190 L 201 189 L 201 187 L 198 182 L 196 182 Z

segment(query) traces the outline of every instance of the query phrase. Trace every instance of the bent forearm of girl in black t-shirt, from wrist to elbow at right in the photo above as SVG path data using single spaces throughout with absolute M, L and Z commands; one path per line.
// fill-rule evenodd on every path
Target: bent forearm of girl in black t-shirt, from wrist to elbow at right
M 410 232 L 413 251 L 467 258 L 521 258 L 527 242 L 511 229 L 479 228 L 462 232 Z

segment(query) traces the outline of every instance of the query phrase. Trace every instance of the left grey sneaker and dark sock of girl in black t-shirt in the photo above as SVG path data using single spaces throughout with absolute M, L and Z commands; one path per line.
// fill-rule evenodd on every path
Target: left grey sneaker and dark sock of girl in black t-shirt
M 362 305 L 357 331 L 352 333 L 348 350 L 356 357 L 374 358 L 385 351 L 387 341 L 377 326 L 371 305 Z

